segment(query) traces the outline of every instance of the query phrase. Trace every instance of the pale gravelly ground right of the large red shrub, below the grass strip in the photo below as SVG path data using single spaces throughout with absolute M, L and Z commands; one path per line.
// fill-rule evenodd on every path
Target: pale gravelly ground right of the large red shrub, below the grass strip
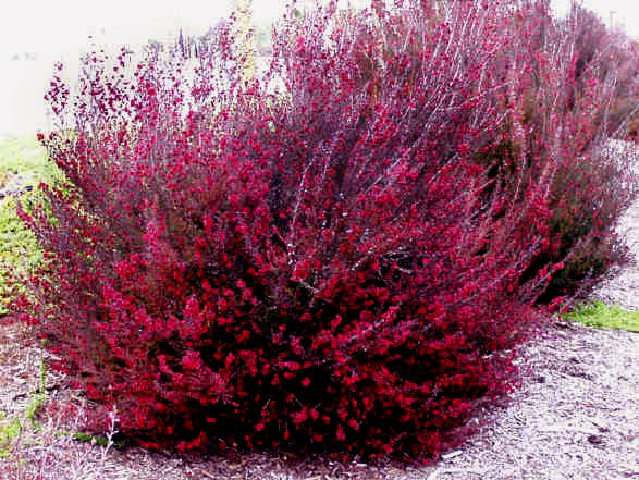
M 639 335 L 555 321 L 521 389 L 427 480 L 639 479 Z

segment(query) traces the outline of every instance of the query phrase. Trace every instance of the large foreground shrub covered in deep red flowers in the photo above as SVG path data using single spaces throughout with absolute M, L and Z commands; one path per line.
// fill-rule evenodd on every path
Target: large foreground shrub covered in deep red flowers
M 442 5 L 284 21 L 253 81 L 221 26 L 137 65 L 87 57 L 71 109 L 52 82 L 69 183 L 21 212 L 48 262 L 14 307 L 122 432 L 433 455 L 509 390 L 593 120 L 542 96 L 569 95 L 569 62 L 539 52 L 537 78 L 516 56 L 541 7 Z

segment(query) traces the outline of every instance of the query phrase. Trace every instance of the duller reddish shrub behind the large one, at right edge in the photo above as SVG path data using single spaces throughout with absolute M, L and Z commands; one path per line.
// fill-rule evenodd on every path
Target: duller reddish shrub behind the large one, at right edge
M 539 174 L 532 158 L 555 164 L 551 248 L 531 268 L 534 272 L 542 264 L 564 264 L 541 297 L 550 300 L 587 290 L 611 264 L 626 259 L 612 231 L 636 192 L 632 150 L 611 148 L 606 140 L 611 134 L 629 133 L 636 112 L 627 103 L 639 100 L 639 57 L 627 38 L 579 5 L 557 25 L 541 13 L 531 20 L 536 41 L 516 37 L 519 41 L 513 46 L 518 63 L 529 65 L 531 75 L 514 89 L 509 137 L 517 136 L 516 128 L 526 132 L 523 148 L 514 153 L 518 163 L 533 168 L 532 175 Z

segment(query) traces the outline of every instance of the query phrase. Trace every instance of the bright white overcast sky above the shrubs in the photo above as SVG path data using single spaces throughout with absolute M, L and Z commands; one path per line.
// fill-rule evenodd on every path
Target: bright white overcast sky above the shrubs
M 361 2 L 357 0 L 355 3 Z M 552 0 L 565 11 L 570 0 Z M 200 33 L 225 16 L 230 0 L 0 0 L 0 54 L 54 53 L 82 48 L 88 35 L 115 42 L 142 42 L 184 28 Z M 585 0 L 605 21 L 610 12 L 639 37 L 639 0 Z M 279 15 L 281 0 L 254 0 L 256 22 Z M 103 30 L 103 32 L 102 32 Z

